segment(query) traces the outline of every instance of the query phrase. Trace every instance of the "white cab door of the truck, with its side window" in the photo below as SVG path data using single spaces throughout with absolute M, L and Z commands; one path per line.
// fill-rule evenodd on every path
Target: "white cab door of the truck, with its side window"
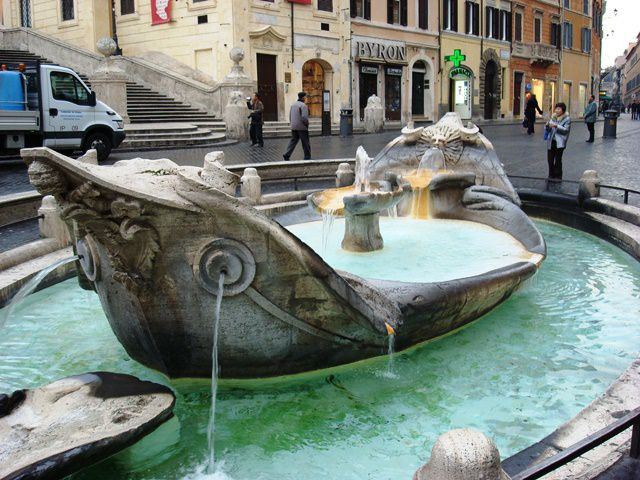
M 48 76 L 43 91 L 45 137 L 53 134 L 57 148 L 78 148 L 87 127 L 94 123 L 95 107 L 90 105 L 89 90 L 69 72 L 45 70 Z M 50 135 L 46 135 L 49 133 Z M 51 145 L 47 142 L 47 145 Z

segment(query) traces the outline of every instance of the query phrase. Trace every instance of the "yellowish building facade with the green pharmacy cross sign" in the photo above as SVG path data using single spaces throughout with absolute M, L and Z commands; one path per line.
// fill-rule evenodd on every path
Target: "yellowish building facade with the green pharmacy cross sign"
M 512 2 L 441 0 L 440 8 L 440 114 L 510 118 Z

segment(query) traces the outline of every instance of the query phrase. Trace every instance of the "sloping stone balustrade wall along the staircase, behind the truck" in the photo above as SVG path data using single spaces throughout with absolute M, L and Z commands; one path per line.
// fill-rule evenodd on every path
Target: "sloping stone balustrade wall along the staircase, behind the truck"
M 103 59 L 89 50 L 27 28 L 0 29 L 0 43 L 5 49 L 27 50 L 88 76 Z M 127 74 L 129 81 L 222 116 L 226 98 L 220 84 L 207 85 L 140 58 L 115 57 L 114 63 Z M 232 89 L 233 85 L 227 87 Z

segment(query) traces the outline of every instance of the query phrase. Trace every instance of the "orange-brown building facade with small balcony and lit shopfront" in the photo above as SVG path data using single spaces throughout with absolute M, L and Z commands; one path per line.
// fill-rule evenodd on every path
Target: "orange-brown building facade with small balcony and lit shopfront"
M 560 6 L 557 0 L 513 2 L 513 52 L 510 102 L 514 117 L 524 115 L 527 94 L 543 112 L 558 99 L 560 77 Z

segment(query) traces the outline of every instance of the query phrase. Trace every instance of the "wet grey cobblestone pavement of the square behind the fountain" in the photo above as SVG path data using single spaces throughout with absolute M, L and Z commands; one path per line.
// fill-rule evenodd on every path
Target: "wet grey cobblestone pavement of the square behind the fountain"
M 536 126 L 535 135 L 527 135 L 519 125 L 491 125 L 483 127 L 485 135 L 496 148 L 507 174 L 533 177 L 547 176 L 546 147 L 542 125 Z M 603 123 L 596 124 L 596 140 L 585 143 L 587 128 L 575 121 L 572 126 L 569 145 L 564 155 L 564 178 L 579 180 L 582 172 L 594 169 L 603 183 L 625 186 L 640 190 L 640 169 L 636 164 L 640 159 L 640 121 L 632 121 L 623 114 L 618 122 L 618 138 L 602 138 Z M 374 156 L 399 132 L 383 132 L 377 135 L 354 135 L 341 138 L 312 137 L 312 158 L 347 158 L 355 155 L 356 148 L 364 146 L 369 155 Z M 225 153 L 229 165 L 281 161 L 288 138 L 267 139 L 264 148 L 251 147 L 248 142 L 218 147 Z M 134 157 L 170 158 L 180 165 L 201 166 L 206 153 L 215 147 L 181 150 L 156 150 L 144 152 L 115 151 L 109 163 Z M 298 145 L 291 157 L 302 159 L 302 147 Z M 0 163 L 0 195 L 31 190 L 26 168 L 21 164 L 2 165 Z

